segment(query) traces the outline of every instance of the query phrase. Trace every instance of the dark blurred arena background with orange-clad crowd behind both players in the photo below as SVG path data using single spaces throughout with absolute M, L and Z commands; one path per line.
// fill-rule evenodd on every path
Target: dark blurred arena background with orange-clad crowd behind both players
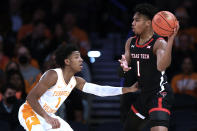
M 18 109 L 42 73 L 58 67 L 54 52 L 62 44 L 79 47 L 84 68 L 77 75 L 88 82 L 130 86 L 135 81 L 132 71 L 123 74 L 117 61 L 127 38 L 134 35 L 133 8 L 143 2 L 171 11 L 179 20 L 172 63 L 166 71 L 175 93 L 170 130 L 196 130 L 195 0 L 1 0 L 0 130 L 23 130 Z M 101 56 L 88 56 L 91 50 Z M 74 90 L 57 114 L 76 131 L 120 131 L 137 95 L 98 98 Z

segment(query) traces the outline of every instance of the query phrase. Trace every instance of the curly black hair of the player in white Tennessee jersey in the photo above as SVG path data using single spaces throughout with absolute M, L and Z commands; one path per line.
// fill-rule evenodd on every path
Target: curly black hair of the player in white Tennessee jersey
M 79 51 L 78 47 L 74 44 L 61 45 L 55 51 L 56 64 L 61 68 L 65 67 L 64 60 L 67 59 L 73 51 Z

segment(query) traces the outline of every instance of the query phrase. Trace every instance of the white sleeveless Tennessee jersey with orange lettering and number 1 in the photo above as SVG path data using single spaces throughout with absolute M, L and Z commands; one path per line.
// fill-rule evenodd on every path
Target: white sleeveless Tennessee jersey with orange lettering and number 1
M 55 113 L 58 110 L 58 108 L 70 95 L 71 91 L 76 85 L 76 79 L 74 76 L 71 77 L 69 83 L 65 82 L 61 68 L 51 70 L 56 71 L 58 76 L 57 82 L 54 86 L 48 89 L 38 100 L 42 108 L 49 114 Z M 45 75 L 45 73 L 43 74 L 43 76 Z

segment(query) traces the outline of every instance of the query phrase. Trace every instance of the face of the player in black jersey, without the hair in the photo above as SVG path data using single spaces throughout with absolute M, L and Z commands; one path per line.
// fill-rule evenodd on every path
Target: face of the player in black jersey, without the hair
M 144 30 L 147 29 L 148 21 L 150 23 L 150 20 L 148 20 L 146 16 L 139 14 L 139 13 L 135 13 L 135 15 L 133 16 L 133 22 L 132 22 L 133 32 L 136 35 L 142 34 L 142 32 L 144 32 Z

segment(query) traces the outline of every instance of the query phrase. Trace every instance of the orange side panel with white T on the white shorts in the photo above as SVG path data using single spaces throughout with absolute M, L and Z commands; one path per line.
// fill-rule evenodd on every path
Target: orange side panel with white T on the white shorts
M 22 109 L 22 115 L 29 131 L 31 131 L 33 125 L 40 124 L 40 120 L 27 102 L 24 104 Z

